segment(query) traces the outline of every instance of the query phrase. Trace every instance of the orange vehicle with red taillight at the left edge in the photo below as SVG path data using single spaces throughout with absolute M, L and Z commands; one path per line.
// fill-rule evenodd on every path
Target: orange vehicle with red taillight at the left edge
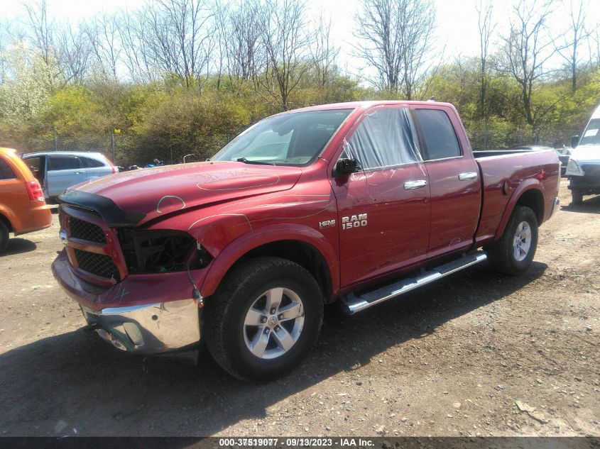
M 11 148 L 0 148 L 0 253 L 9 233 L 20 235 L 52 224 L 50 206 L 31 170 Z

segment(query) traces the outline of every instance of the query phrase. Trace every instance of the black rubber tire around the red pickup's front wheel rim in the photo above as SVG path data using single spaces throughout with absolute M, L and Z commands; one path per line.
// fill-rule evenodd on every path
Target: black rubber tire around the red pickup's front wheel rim
M 303 325 L 287 352 L 266 360 L 247 346 L 244 320 L 251 306 L 265 297 L 261 296 L 264 292 L 279 288 L 301 300 Z M 258 257 L 236 267 L 204 304 L 202 335 L 209 351 L 224 370 L 242 380 L 265 381 L 293 370 L 317 342 L 323 321 L 323 296 L 315 278 L 300 265 L 278 257 Z M 263 332 L 260 329 L 256 332 Z M 269 345 L 279 341 L 273 333 L 266 337 Z

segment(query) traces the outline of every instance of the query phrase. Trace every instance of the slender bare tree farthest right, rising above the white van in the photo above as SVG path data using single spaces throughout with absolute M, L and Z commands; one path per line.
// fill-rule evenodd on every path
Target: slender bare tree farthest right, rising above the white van
M 570 1 L 569 7 L 569 31 L 562 35 L 560 47 L 557 47 L 559 55 L 564 59 L 571 77 L 571 90 L 577 90 L 577 75 L 579 75 L 579 48 L 589 38 L 589 31 L 585 27 L 586 5 L 580 2 L 577 10 Z

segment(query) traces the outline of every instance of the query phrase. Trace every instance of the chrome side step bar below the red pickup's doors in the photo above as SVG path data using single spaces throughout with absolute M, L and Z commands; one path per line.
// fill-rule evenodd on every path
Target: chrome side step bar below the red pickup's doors
M 483 251 L 469 253 L 460 259 L 444 263 L 444 265 L 440 265 L 432 270 L 423 272 L 416 277 L 400 279 L 398 282 L 384 285 L 383 287 L 364 292 L 360 295 L 356 295 L 354 293 L 347 294 L 345 300 L 342 300 L 342 306 L 347 314 L 354 315 L 356 312 L 369 309 L 369 307 L 375 306 L 383 301 L 395 298 L 396 296 L 400 296 L 401 294 L 405 294 L 411 290 L 418 289 L 419 287 L 436 281 L 437 279 L 441 279 L 442 277 L 452 275 L 452 273 L 457 271 L 464 270 L 471 265 L 483 262 L 487 258 L 488 255 Z

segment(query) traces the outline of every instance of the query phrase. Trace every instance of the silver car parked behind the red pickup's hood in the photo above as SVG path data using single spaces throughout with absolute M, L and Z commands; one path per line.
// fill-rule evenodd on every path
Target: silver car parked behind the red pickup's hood
M 102 153 L 49 151 L 28 153 L 23 160 L 40 182 L 45 199 L 50 201 L 75 184 L 117 172 Z

